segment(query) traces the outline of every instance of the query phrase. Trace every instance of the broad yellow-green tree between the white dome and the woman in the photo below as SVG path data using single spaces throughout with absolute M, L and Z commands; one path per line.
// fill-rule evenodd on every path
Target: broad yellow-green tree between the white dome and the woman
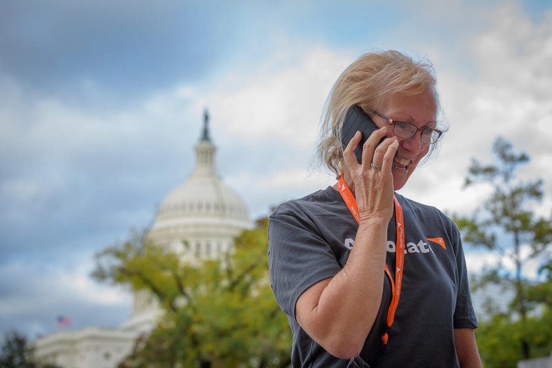
M 121 367 L 289 367 L 291 331 L 268 275 L 268 219 L 219 260 L 184 263 L 146 234 L 97 255 L 93 276 L 155 295 L 164 316 Z

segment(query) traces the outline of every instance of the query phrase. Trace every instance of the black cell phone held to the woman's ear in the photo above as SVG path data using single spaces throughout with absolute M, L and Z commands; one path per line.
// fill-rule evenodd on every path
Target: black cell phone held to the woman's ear
M 380 128 L 375 125 L 372 119 L 370 119 L 370 116 L 368 116 L 368 114 L 366 114 L 366 112 L 364 112 L 359 105 L 351 106 L 351 108 L 347 111 L 347 115 L 345 116 L 345 121 L 343 122 L 343 127 L 341 129 L 341 143 L 344 147 L 347 147 L 349 141 L 353 139 L 353 136 L 355 136 L 357 131 L 361 132 L 362 139 L 357 145 L 355 155 L 357 156 L 358 163 L 362 163 L 362 145 L 364 145 L 366 139 L 368 139 L 368 136 L 378 129 Z M 386 139 L 386 137 L 380 139 L 380 141 L 377 142 L 376 147 L 380 145 L 384 139 Z M 397 156 L 397 154 L 395 154 L 395 156 Z

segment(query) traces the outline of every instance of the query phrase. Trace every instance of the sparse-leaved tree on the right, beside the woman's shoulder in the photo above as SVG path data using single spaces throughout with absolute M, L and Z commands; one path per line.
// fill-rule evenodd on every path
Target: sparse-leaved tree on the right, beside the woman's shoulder
M 515 176 L 517 167 L 529 162 L 529 156 L 525 153 L 516 154 L 511 143 L 500 137 L 493 143 L 493 152 L 498 163 L 482 165 L 473 159 L 465 184 L 490 185 L 493 189 L 491 196 L 472 216 L 455 217 L 455 222 L 466 243 L 486 247 L 501 256 L 501 262 L 487 269 L 475 287 L 489 282 L 501 283 L 515 290 L 515 298 L 510 305 L 511 313 L 495 316 L 490 323 L 481 323 L 476 334 L 482 358 L 487 353 L 489 358 L 500 355 L 497 354 L 498 347 L 504 352 L 504 359 L 532 358 L 541 354 L 541 347 L 535 343 L 539 338 L 533 336 L 533 332 L 538 331 L 538 322 L 535 323 L 535 318 L 529 318 L 528 314 L 542 301 L 539 300 L 538 289 L 542 286 L 532 285 L 522 276 L 522 270 L 527 261 L 542 258 L 551 248 L 552 219 L 537 218 L 529 206 L 542 201 L 542 180 L 524 182 Z M 530 252 L 524 252 L 524 247 L 529 247 Z M 515 265 L 513 273 L 504 267 L 502 260 L 506 259 Z M 546 327 L 552 330 L 549 311 L 542 316 L 541 323 L 548 324 Z M 511 334 L 508 333 L 509 329 Z M 542 348 L 544 354 L 550 354 L 551 348 L 551 343 Z M 510 362 L 513 363 L 512 367 L 515 367 L 517 360 Z M 496 361 L 503 365 L 493 365 L 487 360 L 486 366 L 506 367 L 506 360 Z

